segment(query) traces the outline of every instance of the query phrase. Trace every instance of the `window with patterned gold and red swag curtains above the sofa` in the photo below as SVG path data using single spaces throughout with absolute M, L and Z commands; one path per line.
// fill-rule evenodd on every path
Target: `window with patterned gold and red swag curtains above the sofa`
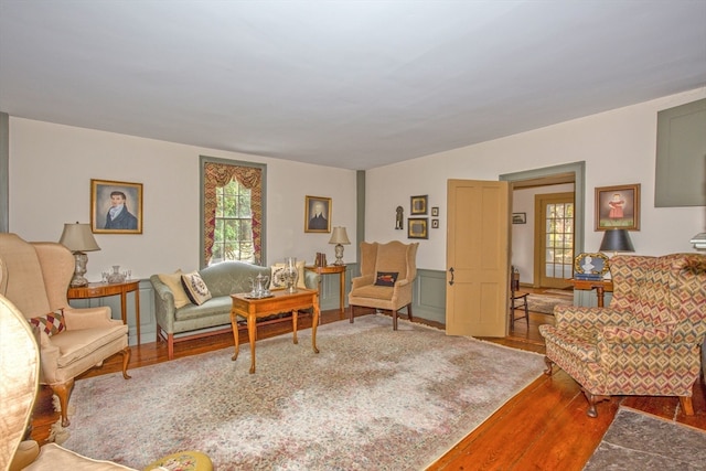
M 264 259 L 266 165 L 201 158 L 201 266 Z

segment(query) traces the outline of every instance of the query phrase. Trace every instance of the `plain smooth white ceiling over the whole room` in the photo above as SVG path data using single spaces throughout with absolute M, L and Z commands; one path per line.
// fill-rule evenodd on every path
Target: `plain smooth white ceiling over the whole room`
M 706 1 L 0 0 L 0 111 L 343 169 L 706 86 Z

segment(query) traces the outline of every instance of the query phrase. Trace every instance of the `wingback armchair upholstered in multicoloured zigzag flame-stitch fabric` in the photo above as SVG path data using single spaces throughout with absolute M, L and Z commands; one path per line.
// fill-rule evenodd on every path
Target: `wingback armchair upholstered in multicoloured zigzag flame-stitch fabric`
M 694 414 L 693 386 L 706 334 L 706 256 L 614 256 L 607 308 L 557 306 L 541 325 L 547 371 L 556 363 L 596 404 L 611 395 L 678 396 Z

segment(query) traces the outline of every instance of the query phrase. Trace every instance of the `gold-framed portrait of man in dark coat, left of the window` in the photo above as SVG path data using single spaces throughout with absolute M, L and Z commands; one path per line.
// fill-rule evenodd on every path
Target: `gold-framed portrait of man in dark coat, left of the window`
M 142 234 L 142 183 L 90 180 L 90 229 Z

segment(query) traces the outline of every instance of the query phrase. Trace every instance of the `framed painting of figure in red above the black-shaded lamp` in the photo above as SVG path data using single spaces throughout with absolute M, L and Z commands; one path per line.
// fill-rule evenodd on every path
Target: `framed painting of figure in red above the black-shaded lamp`
M 596 189 L 596 231 L 640 231 L 640 184 Z

